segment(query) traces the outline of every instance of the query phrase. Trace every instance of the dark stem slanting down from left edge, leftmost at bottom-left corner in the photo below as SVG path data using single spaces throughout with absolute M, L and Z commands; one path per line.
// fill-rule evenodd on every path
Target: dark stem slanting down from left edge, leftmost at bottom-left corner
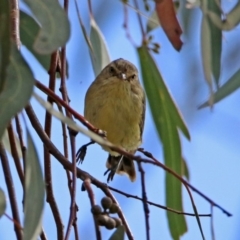
M 5 151 L 2 143 L 0 143 L 0 158 L 1 158 L 1 162 L 2 162 L 2 168 L 3 168 L 4 177 L 5 177 L 5 182 L 7 185 L 10 205 L 11 205 L 11 209 L 12 209 L 12 215 L 13 215 L 14 220 L 17 223 L 19 223 L 19 225 L 20 225 L 20 218 L 19 218 L 19 214 L 18 214 L 18 206 L 17 206 L 16 195 L 15 195 L 14 183 L 13 183 L 12 174 L 10 171 L 10 166 L 8 164 L 9 160 L 8 160 L 6 151 Z M 16 224 L 14 224 L 14 230 L 16 232 L 17 239 L 22 240 L 22 230 Z

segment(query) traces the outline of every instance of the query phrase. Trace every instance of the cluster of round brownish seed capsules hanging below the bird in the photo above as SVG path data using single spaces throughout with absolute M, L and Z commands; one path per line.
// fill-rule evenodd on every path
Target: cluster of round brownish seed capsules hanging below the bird
M 119 206 L 112 202 L 109 197 L 103 197 L 101 200 L 101 206 L 94 205 L 91 209 L 97 223 L 100 226 L 105 226 L 107 229 L 117 228 L 122 225 L 120 218 L 112 217 L 109 214 L 114 214 L 119 212 Z M 103 208 L 103 209 L 102 209 Z

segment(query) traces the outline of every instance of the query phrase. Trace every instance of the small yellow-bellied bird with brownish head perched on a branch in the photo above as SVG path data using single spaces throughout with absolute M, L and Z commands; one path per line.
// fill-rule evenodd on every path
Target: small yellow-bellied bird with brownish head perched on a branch
M 145 106 L 137 68 L 120 58 L 107 65 L 88 88 L 84 116 L 96 128 L 106 131 L 110 142 L 134 154 L 142 143 Z M 103 149 L 109 152 L 108 181 L 115 172 L 135 181 L 133 160 L 108 147 L 103 146 Z

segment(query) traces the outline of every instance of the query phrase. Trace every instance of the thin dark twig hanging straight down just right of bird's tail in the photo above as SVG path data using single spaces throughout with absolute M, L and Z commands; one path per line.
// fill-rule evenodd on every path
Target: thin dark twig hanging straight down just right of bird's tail
M 141 173 L 141 186 L 142 186 L 142 203 L 143 203 L 143 210 L 145 215 L 145 225 L 146 225 L 146 239 L 150 240 L 150 224 L 149 224 L 149 208 L 147 204 L 147 193 L 145 187 L 145 172 L 142 168 L 141 162 L 138 162 L 138 170 Z

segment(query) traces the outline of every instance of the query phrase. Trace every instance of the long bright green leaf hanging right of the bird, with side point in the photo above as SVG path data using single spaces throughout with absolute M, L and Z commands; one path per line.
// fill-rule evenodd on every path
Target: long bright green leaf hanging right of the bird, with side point
M 163 144 L 166 166 L 181 175 L 182 154 L 178 127 L 190 138 L 188 130 L 165 86 L 158 68 L 146 47 L 138 48 L 143 83 L 159 137 Z M 181 182 L 166 174 L 166 204 L 183 211 Z M 173 239 L 187 231 L 185 217 L 168 212 L 168 223 Z

